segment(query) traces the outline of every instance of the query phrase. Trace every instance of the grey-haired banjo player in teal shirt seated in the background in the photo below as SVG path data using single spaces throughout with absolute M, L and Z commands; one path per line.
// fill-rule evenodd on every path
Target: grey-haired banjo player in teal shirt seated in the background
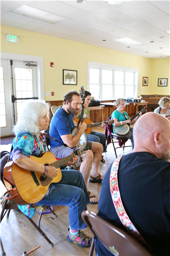
M 116 107 L 117 109 L 115 111 L 113 111 L 111 118 L 114 118 L 114 124 L 113 124 L 113 132 L 114 131 L 114 126 L 120 126 L 123 124 L 135 124 L 135 122 L 138 120 L 138 118 L 142 115 L 142 113 L 139 114 L 139 116 L 137 116 L 132 122 L 130 117 L 128 116 L 128 113 L 126 113 L 124 111 L 125 109 L 125 101 L 124 99 L 117 99 L 115 101 L 116 103 Z M 125 138 L 130 139 L 131 143 L 132 143 L 132 150 L 133 150 L 133 128 L 130 127 L 130 131 L 128 132 L 128 134 L 124 135 Z

